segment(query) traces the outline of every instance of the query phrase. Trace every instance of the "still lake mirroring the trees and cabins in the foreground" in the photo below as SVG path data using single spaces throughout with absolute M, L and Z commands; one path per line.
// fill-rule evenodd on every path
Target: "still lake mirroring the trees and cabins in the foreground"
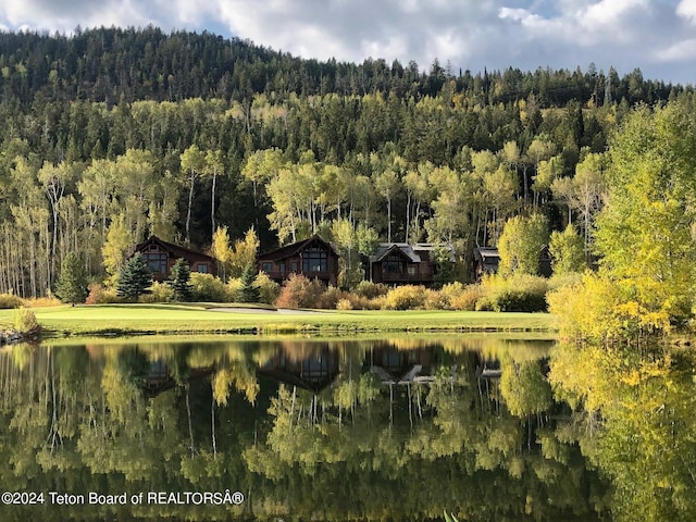
M 696 520 L 693 356 L 500 334 L 0 350 L 0 519 Z

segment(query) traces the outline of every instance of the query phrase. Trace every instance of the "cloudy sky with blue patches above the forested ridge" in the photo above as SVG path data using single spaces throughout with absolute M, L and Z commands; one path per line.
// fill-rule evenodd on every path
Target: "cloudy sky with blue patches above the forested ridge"
M 456 74 L 551 67 L 696 84 L 696 0 L 2 0 L 1 30 L 208 30 L 302 58 L 437 58 Z

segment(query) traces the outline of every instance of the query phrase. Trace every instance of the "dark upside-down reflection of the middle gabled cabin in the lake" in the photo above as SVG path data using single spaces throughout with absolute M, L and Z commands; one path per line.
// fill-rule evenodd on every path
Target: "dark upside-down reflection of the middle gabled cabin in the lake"
M 338 352 L 324 345 L 314 353 L 299 358 L 278 349 L 257 373 L 319 394 L 333 384 L 340 373 Z

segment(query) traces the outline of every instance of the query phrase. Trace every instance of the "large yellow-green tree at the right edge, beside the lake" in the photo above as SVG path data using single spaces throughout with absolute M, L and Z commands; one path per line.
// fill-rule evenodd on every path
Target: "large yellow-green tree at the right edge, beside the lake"
M 639 108 L 611 142 L 596 248 L 631 301 L 671 321 L 691 315 L 696 285 L 696 113 L 688 99 Z

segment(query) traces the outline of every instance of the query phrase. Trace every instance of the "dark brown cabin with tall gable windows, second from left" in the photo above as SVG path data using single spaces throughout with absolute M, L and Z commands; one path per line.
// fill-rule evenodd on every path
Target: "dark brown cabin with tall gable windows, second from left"
M 338 253 L 318 235 L 263 253 L 257 263 L 276 283 L 290 274 L 302 274 L 333 286 L 338 281 Z

